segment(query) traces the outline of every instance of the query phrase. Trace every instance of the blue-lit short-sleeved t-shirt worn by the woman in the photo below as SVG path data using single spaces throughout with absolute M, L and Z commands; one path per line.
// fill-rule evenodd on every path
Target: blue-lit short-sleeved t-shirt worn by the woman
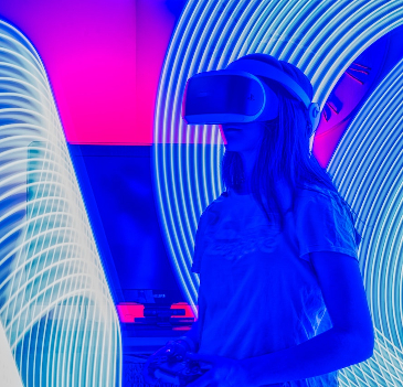
M 229 192 L 200 217 L 191 270 L 200 273 L 201 354 L 261 356 L 329 330 L 311 251 L 358 259 L 352 222 L 330 190 L 298 190 L 284 232 L 252 195 Z M 333 387 L 338 372 L 271 386 Z

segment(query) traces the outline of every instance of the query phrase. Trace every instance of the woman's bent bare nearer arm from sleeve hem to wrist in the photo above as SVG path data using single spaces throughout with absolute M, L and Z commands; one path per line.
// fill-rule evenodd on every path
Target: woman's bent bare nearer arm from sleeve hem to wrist
M 374 333 L 358 261 L 310 252 L 332 329 L 299 345 L 241 361 L 255 386 L 327 374 L 372 356 Z

